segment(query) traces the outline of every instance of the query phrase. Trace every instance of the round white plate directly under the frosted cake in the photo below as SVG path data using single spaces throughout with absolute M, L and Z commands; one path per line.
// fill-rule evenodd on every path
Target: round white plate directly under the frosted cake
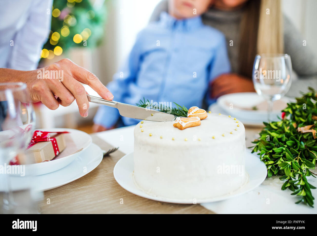
M 251 154 L 249 150 L 245 152 L 245 169 L 249 174 L 249 181 L 242 188 L 237 191 L 219 197 L 213 197 L 209 199 L 197 199 L 197 203 L 203 202 L 218 202 L 234 196 L 239 196 L 243 193 L 251 191 L 252 189 L 259 186 L 267 176 L 267 169 L 265 164 L 260 160 L 256 154 Z M 113 169 L 113 176 L 115 180 L 120 184 L 120 186 L 127 191 L 148 199 L 152 199 L 159 202 L 171 202 L 171 203 L 181 203 L 181 204 L 192 204 L 193 200 L 176 200 L 163 197 L 155 197 L 148 195 L 147 193 L 140 190 L 133 182 L 133 153 L 127 154 L 122 157 Z

